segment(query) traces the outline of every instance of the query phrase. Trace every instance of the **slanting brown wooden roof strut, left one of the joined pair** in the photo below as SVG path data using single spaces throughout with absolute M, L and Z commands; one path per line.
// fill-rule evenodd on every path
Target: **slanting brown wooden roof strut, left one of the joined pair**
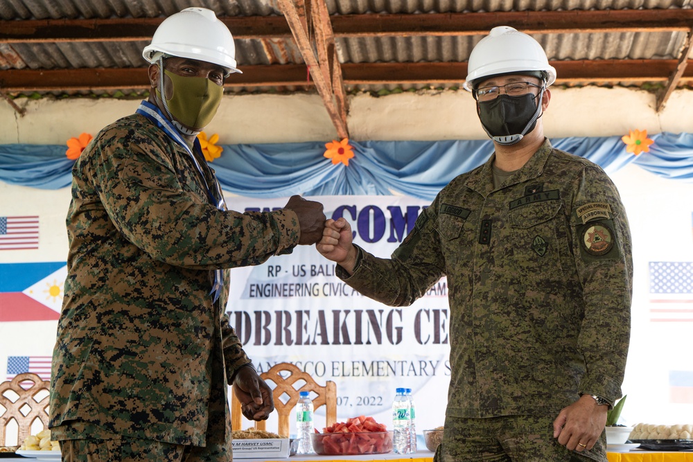
M 324 0 L 318 1 L 324 2 Z M 304 61 L 306 64 L 308 64 L 310 75 L 313 77 L 313 82 L 315 82 L 315 88 L 322 98 L 325 109 L 327 109 L 327 113 L 330 116 L 335 129 L 337 129 L 337 135 L 340 136 L 340 138 L 349 138 L 346 112 L 339 107 L 337 98 L 335 98 L 335 91 L 332 85 L 333 82 L 329 78 L 331 72 L 328 69 L 329 63 L 327 62 L 327 57 L 324 54 L 326 51 L 323 50 L 321 54 L 316 54 L 315 48 L 313 48 L 314 42 L 312 37 L 313 34 L 311 32 L 314 30 L 313 14 L 316 13 L 311 14 L 310 9 L 315 2 L 313 0 L 278 0 L 278 3 L 279 8 L 281 8 L 284 17 L 286 17 L 286 21 L 291 28 L 291 33 L 299 48 L 299 51 L 301 51 L 301 56 L 303 56 Z M 318 6 L 317 8 L 319 22 L 320 7 Z M 324 28 L 325 26 L 322 25 L 322 27 Z M 327 27 L 329 28 L 331 26 Z M 328 35 L 331 35 L 331 30 L 323 30 L 323 40 Z M 322 60 L 320 59 L 321 55 L 323 57 Z M 243 69 L 245 69 L 245 67 Z

